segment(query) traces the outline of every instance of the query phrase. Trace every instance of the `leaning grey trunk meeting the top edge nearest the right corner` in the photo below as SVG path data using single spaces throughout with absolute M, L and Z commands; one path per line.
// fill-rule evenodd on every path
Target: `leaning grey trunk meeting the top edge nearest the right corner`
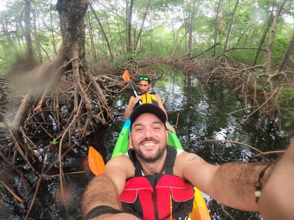
M 278 7 L 276 13 L 275 13 L 275 17 L 273 20 L 273 26 L 272 26 L 272 31 L 270 33 L 270 39 L 268 40 L 268 48 L 266 51 L 266 56 L 265 56 L 265 62 L 264 62 L 264 66 L 265 66 L 265 71 L 268 72 L 270 69 L 270 58 L 272 55 L 272 50 L 273 50 L 273 45 L 274 45 L 274 40 L 275 40 L 275 32 L 277 30 L 277 23 L 278 23 L 278 18 L 280 16 L 281 11 L 283 10 L 286 2 L 288 0 L 283 0 L 280 4 L 280 6 Z

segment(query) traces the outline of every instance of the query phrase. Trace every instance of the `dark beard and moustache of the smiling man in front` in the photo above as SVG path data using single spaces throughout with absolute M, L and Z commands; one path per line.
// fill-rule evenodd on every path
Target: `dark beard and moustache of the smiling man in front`
M 144 155 L 142 150 L 140 149 L 140 145 L 143 144 L 146 141 L 153 141 L 159 144 L 158 150 L 157 152 L 150 156 L 150 155 Z M 132 139 L 132 145 L 133 148 L 135 150 L 136 153 L 136 157 L 143 160 L 146 163 L 155 163 L 158 160 L 160 160 L 161 158 L 163 158 L 163 152 L 164 150 L 166 150 L 166 144 L 167 144 L 167 138 L 165 138 L 165 142 L 164 143 L 159 143 L 158 140 L 156 140 L 155 138 L 144 138 L 142 141 L 140 141 L 138 143 L 138 145 L 135 145 Z

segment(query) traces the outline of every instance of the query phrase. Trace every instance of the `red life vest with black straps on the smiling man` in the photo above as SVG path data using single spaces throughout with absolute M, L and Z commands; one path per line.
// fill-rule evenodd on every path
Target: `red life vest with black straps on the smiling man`
M 194 190 L 182 178 L 173 176 L 177 150 L 167 145 L 165 174 L 143 176 L 133 149 L 128 151 L 135 166 L 135 177 L 126 180 L 119 199 L 123 211 L 140 219 L 187 219 L 193 208 Z

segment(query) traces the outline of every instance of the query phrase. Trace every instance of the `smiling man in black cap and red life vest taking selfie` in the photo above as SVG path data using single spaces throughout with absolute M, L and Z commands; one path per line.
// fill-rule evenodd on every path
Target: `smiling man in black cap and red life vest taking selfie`
M 138 106 L 130 120 L 133 149 L 109 160 L 105 172 L 89 182 L 82 201 L 85 220 L 187 219 L 193 207 L 192 186 L 227 206 L 260 211 L 258 198 L 275 165 L 211 165 L 166 145 L 166 114 L 153 104 Z M 261 206 L 267 203 L 261 200 Z

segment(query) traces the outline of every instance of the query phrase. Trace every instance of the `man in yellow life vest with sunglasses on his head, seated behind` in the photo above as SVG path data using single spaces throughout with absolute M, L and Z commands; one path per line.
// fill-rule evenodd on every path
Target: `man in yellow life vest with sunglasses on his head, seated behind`
M 149 92 L 149 89 L 151 87 L 151 79 L 148 76 L 142 76 L 139 78 L 139 87 L 140 87 L 140 93 L 137 97 L 132 96 L 129 100 L 128 107 L 124 113 L 124 116 L 126 119 L 130 118 L 130 115 L 132 111 L 139 105 L 139 100 L 142 101 L 142 103 L 153 103 L 158 105 L 165 113 L 166 110 L 163 107 L 162 101 L 160 96 L 157 93 Z M 166 114 L 167 117 L 167 114 Z M 171 132 L 176 133 L 175 129 L 169 125 L 166 121 L 166 128 L 170 130 Z

